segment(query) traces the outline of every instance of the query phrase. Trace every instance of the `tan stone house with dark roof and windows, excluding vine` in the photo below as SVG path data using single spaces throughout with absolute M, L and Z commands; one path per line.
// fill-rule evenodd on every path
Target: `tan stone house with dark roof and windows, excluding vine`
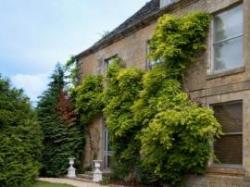
M 151 0 L 124 23 L 76 56 L 81 77 L 103 74 L 110 60 L 121 57 L 127 67 L 150 68 L 148 40 L 165 14 L 205 11 L 212 16 L 207 50 L 190 67 L 185 89 L 210 106 L 224 135 L 213 149 L 217 159 L 205 176 L 190 176 L 187 186 L 250 186 L 250 0 Z M 109 167 L 112 152 L 102 116 L 89 125 L 85 166 L 93 159 Z

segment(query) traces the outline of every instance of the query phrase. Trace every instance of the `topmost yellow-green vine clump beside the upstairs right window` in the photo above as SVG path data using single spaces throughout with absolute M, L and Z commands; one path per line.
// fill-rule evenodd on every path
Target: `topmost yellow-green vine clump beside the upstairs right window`
M 209 15 L 190 13 L 186 16 L 162 16 L 150 40 L 149 57 L 166 65 L 169 76 L 182 78 L 188 66 L 206 48 Z

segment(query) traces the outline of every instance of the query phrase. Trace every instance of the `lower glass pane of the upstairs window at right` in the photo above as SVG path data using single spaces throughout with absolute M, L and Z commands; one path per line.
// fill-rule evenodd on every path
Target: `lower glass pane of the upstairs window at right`
M 242 37 L 214 45 L 214 71 L 243 66 Z

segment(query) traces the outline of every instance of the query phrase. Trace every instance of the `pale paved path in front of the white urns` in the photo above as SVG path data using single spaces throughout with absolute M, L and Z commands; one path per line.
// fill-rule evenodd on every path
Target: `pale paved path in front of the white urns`
M 51 182 L 51 183 L 61 183 L 61 184 L 69 184 L 75 187 L 108 187 L 103 186 L 96 183 L 77 181 L 74 179 L 66 179 L 66 178 L 39 178 L 39 181 L 43 182 Z

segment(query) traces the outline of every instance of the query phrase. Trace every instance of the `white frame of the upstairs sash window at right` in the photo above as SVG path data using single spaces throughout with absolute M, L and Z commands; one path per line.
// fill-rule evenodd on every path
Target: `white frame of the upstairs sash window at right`
M 233 7 L 231 7 L 231 8 L 229 8 L 229 9 L 226 9 L 226 10 L 224 10 L 224 11 L 222 11 L 222 12 L 218 12 L 217 14 L 215 14 L 214 16 L 213 16 L 213 19 L 212 19 L 212 21 L 211 21 L 211 39 L 210 39 L 210 50 L 211 50 L 211 55 L 210 55 L 210 59 L 211 59 L 211 63 L 210 63 L 210 74 L 218 74 L 218 73 L 223 73 L 223 72 L 227 72 L 227 71 L 231 71 L 231 70 L 235 70 L 235 69 L 239 69 L 239 68 L 242 68 L 242 67 L 244 67 L 245 66 L 245 63 L 244 63 L 244 58 L 243 58 L 243 64 L 241 65 L 241 66 L 239 66 L 239 67 L 236 67 L 236 68 L 232 68 L 232 69 L 224 69 L 224 70 L 214 70 L 214 64 L 215 64 L 215 50 L 214 50 L 214 47 L 215 47 L 215 41 L 214 41 L 214 38 L 215 38 L 215 32 L 214 32 L 214 17 L 215 16 L 217 16 L 217 15 L 219 15 L 219 14 L 221 14 L 221 13 L 223 13 L 223 12 L 226 12 L 226 11 L 230 11 L 230 10 L 232 10 L 232 9 L 234 9 L 234 8 L 236 8 L 236 7 L 238 7 L 238 6 L 242 6 L 242 4 L 238 4 L 238 5 L 236 5 L 236 6 L 233 6 Z M 244 9 L 242 9 L 242 11 L 244 11 Z M 244 13 L 244 12 L 243 12 Z M 244 18 L 243 18 L 244 19 Z M 244 22 L 243 22 L 243 24 L 244 24 Z M 244 25 L 243 25 L 243 27 L 244 27 Z M 221 40 L 221 41 L 219 41 L 219 42 L 216 42 L 216 44 L 219 44 L 219 43 L 223 43 L 223 42 L 226 42 L 226 41 L 230 41 L 230 40 L 233 40 L 233 39 L 236 39 L 236 38 L 240 38 L 240 37 L 244 37 L 244 29 L 243 29 L 243 32 L 241 33 L 241 34 L 239 34 L 239 35 L 237 35 L 237 36 L 232 36 L 232 37 L 230 37 L 230 38 L 227 38 L 227 39 L 224 39 L 224 40 Z M 243 39 L 243 41 L 244 41 L 244 39 Z M 243 45 L 243 43 L 242 43 L 242 45 Z M 243 53 L 244 53 L 244 49 L 243 49 Z M 243 55 L 243 57 L 244 57 L 244 55 Z

